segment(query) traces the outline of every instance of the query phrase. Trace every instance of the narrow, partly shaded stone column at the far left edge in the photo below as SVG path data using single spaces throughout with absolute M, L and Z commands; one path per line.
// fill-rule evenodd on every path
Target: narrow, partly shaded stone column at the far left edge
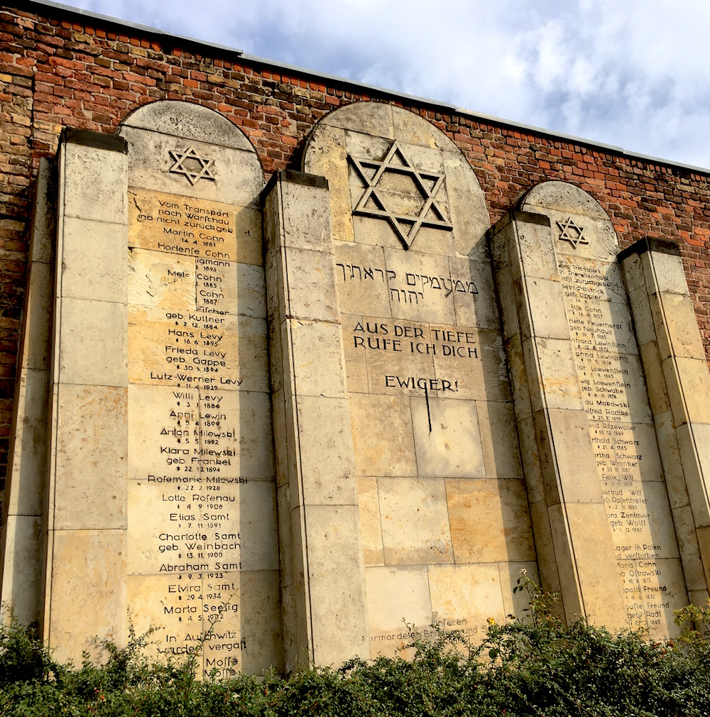
M 37 625 L 42 605 L 42 509 L 47 481 L 47 405 L 52 354 L 56 167 L 37 174 L 29 268 L 20 338 L 9 476 L 0 536 L 1 601 L 23 625 Z

